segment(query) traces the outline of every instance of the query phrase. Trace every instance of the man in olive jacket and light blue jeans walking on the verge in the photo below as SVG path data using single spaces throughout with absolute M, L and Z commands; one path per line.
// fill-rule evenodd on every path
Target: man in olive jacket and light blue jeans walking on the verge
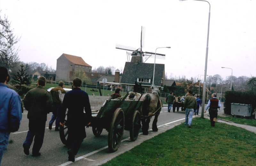
M 186 108 L 186 121 L 185 125 L 191 128 L 193 112 L 196 109 L 196 98 L 192 95 L 192 91 L 188 90 L 187 96 L 184 101 L 184 108 Z

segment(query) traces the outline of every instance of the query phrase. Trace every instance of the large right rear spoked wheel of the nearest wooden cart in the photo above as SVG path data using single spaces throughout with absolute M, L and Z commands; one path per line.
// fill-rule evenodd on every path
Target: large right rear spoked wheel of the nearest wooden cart
M 124 134 L 124 111 L 117 108 L 113 114 L 108 132 L 108 149 L 110 152 L 115 152 L 122 141 Z

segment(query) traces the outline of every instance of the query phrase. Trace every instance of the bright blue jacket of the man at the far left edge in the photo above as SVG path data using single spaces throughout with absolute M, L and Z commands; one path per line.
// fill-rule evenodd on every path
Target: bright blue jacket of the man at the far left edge
M 20 96 L 0 83 L 0 132 L 18 131 L 21 118 Z

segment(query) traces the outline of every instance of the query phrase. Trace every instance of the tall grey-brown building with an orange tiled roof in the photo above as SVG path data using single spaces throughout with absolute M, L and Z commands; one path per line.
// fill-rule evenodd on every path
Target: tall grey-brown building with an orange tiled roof
M 75 70 L 91 72 L 92 66 L 87 64 L 82 57 L 69 54 L 62 54 L 57 59 L 56 77 L 57 80 L 72 78 Z

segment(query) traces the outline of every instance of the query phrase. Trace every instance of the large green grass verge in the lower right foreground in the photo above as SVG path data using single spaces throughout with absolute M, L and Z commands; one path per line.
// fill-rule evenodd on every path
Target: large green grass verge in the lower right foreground
M 256 134 L 194 118 L 134 147 L 102 166 L 255 165 Z

